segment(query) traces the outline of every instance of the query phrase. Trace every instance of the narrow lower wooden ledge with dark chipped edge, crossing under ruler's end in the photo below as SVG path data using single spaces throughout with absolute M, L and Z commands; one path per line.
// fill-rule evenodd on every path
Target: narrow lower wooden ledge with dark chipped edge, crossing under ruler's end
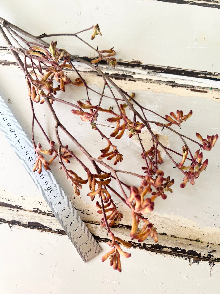
M 51 233 L 65 235 L 62 227 L 55 217 L 45 216 L 41 213 L 6 208 L 0 206 L 0 222 L 9 224 L 10 227 L 22 226 Z M 106 230 L 99 223 L 85 223 L 89 231 L 94 235 L 96 240 L 108 242 L 110 239 L 106 236 Z M 117 237 L 130 241 L 129 230 L 126 228 L 113 227 L 112 232 Z M 153 252 L 171 254 L 195 260 L 209 260 L 220 262 L 220 246 L 211 243 L 196 242 L 189 239 L 176 238 L 167 235 L 159 235 L 159 241 L 155 244 L 154 240 L 148 238 L 143 243 L 136 240 L 132 242 L 135 248 L 141 248 Z

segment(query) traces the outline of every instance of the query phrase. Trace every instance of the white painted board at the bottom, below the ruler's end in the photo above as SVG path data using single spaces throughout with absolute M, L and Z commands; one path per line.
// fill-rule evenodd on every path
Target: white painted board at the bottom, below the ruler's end
M 190 265 L 189 260 L 131 248 L 123 272 L 109 270 L 100 256 L 82 263 L 66 236 L 0 225 L 1 294 L 166 293 L 218 294 L 219 264 Z M 108 245 L 100 244 L 103 251 Z M 137 260 L 139 260 L 137 262 Z

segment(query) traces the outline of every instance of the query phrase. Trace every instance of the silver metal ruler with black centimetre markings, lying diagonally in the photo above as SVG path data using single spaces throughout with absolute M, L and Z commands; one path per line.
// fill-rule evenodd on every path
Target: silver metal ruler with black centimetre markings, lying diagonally
M 9 141 L 11 147 L 23 163 L 40 193 L 45 198 L 54 215 L 62 225 L 70 241 L 75 246 L 82 260 L 86 263 L 101 252 L 101 248 L 79 217 L 72 203 L 67 198 L 60 185 L 50 171 L 42 165 L 42 173 L 33 173 L 36 154 L 33 144 L 13 116 L 8 106 L 0 96 L 0 129 Z

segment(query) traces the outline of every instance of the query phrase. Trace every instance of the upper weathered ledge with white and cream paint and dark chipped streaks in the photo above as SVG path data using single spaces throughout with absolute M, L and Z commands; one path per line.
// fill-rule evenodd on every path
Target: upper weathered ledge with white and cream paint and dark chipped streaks
M 3 48 L 6 49 L 6 48 Z M 6 53 L 7 52 L 7 53 Z M 0 47 L 2 66 L 18 67 L 13 56 Z M 91 59 L 84 58 L 86 61 Z M 93 69 L 84 64 L 73 62 L 76 69 L 84 75 L 84 79 L 89 85 L 102 87 L 103 80 Z M 184 69 L 166 68 L 158 66 L 148 66 L 131 63 L 122 63 L 115 69 L 106 65 L 99 65 L 99 68 L 109 75 L 118 86 L 125 91 L 154 91 L 155 93 L 170 93 L 178 96 L 199 96 L 219 102 L 219 73 L 193 72 Z M 31 65 L 28 65 L 31 67 Z M 75 71 L 66 71 L 67 75 L 76 78 Z M 183 75 L 184 74 L 184 75 Z M 187 76 L 187 74 L 189 76 Z M 196 94 L 195 94 L 195 93 Z

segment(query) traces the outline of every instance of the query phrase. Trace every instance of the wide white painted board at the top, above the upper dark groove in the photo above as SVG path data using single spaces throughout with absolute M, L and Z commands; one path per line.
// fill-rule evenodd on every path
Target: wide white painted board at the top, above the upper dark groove
M 44 0 L 35 3 L 1 0 L 1 17 L 33 35 L 75 33 L 98 23 L 101 37 L 91 41 L 90 32 L 82 37 L 94 47 L 98 45 L 99 50 L 115 46 L 117 59 L 220 71 L 219 9 L 155 0 L 77 0 L 66 1 L 65 6 L 57 0 L 53 4 Z M 94 57 L 92 50 L 72 37 L 59 37 L 57 41 L 72 54 Z

